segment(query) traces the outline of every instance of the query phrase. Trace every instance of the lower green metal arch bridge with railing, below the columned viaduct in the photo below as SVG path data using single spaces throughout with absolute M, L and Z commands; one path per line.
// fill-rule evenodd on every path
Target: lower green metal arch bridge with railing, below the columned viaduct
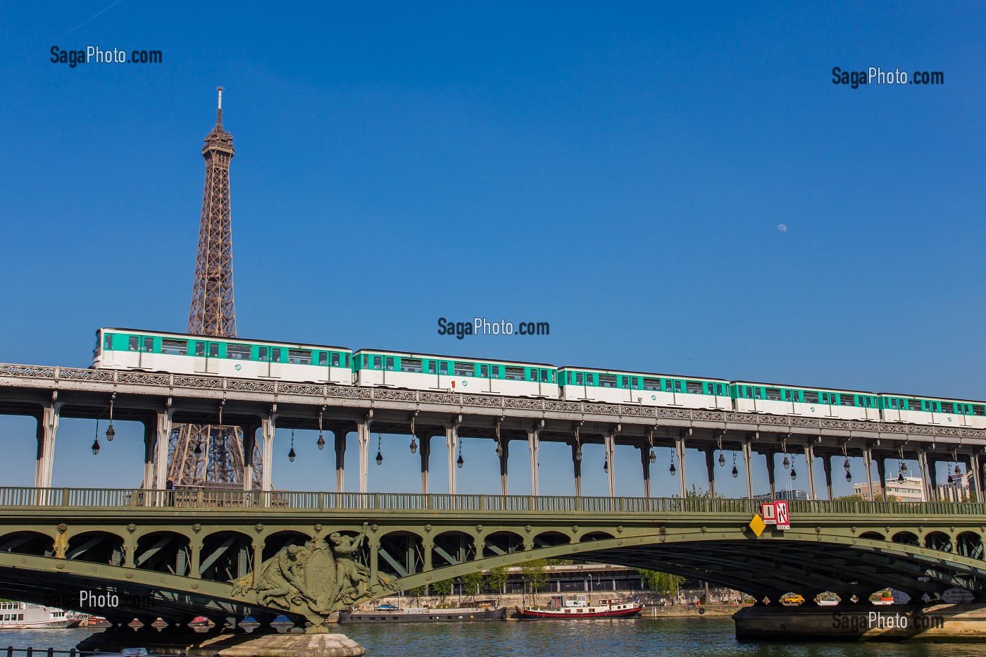
M 320 621 L 354 603 L 538 557 L 663 570 L 757 600 L 951 588 L 980 601 L 980 503 L 0 488 L 0 596 L 124 623 Z M 79 604 L 110 594 L 116 606 Z

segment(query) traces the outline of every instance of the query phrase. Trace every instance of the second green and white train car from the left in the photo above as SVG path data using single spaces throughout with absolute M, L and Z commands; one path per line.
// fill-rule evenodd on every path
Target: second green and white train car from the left
M 544 363 L 376 349 L 360 349 L 353 354 L 357 386 L 557 400 L 557 379 L 557 369 Z

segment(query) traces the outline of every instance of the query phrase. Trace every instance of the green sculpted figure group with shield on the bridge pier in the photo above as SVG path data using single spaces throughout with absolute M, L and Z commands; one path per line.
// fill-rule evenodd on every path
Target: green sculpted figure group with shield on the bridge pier
M 320 625 L 334 611 L 397 590 L 386 576 L 371 581 L 370 568 L 356 560 L 365 540 L 366 524 L 355 537 L 333 532 L 330 546 L 311 540 L 304 546 L 282 547 L 257 573 L 232 582 L 233 595 L 252 593 L 259 605 L 301 614 Z

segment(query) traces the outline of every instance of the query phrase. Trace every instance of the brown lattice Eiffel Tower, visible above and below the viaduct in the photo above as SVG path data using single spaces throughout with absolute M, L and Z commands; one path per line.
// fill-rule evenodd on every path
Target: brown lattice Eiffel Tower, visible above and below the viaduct
M 233 304 L 233 230 L 230 213 L 230 161 L 233 135 L 223 128 L 223 88 L 219 92 L 216 126 L 205 137 L 205 190 L 198 228 L 195 281 L 192 285 L 188 330 L 194 335 L 236 337 Z M 222 416 L 219 418 L 222 422 Z M 239 427 L 180 424 L 168 445 L 168 478 L 176 486 L 245 487 L 244 439 Z M 263 472 L 259 447 L 253 448 L 251 488 L 260 487 Z M 165 481 L 155 487 L 164 488 Z

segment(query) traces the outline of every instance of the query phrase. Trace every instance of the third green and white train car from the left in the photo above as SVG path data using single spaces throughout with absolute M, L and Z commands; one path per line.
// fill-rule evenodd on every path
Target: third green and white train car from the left
M 732 410 L 730 382 L 667 374 L 559 367 L 561 399 Z

